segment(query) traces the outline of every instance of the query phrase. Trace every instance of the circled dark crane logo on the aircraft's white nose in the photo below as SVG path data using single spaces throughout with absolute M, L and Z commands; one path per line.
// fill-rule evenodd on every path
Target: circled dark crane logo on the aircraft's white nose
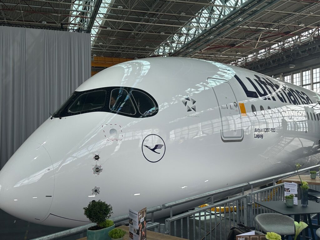
M 149 134 L 142 141 L 142 154 L 151 163 L 160 161 L 165 153 L 164 140 L 156 135 Z

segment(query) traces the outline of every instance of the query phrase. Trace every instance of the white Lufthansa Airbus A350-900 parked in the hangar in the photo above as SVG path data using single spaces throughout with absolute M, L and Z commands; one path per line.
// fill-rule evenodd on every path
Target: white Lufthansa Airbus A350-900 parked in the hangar
M 317 164 L 319 101 L 218 62 L 117 64 L 81 84 L 9 159 L 0 208 L 71 228 L 90 222 L 83 207 L 92 200 L 115 217 Z

